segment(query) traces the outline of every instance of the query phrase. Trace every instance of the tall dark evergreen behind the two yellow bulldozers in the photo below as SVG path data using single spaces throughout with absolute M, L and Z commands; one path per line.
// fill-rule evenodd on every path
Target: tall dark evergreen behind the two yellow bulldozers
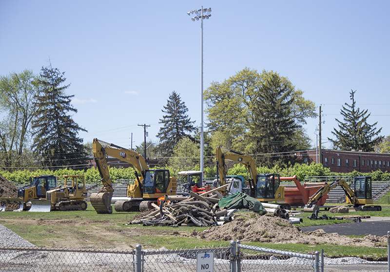
M 69 115 L 77 112 L 71 105 L 74 95 L 66 95 L 70 84 L 63 85 L 66 78 L 57 68 L 42 67 L 39 82 L 43 87 L 37 96 L 38 110 L 32 122 L 34 151 L 42 166 L 73 166 L 86 163 L 87 152 L 78 131 L 87 131 L 78 126 Z M 79 166 L 78 166 L 79 167 Z

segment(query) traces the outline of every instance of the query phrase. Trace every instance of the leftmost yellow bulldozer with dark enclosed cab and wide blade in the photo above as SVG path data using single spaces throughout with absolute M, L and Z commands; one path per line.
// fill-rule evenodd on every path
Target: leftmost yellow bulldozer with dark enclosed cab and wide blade
M 30 212 L 50 212 L 50 201 L 46 200 L 46 192 L 57 187 L 56 176 L 36 176 L 30 186 L 20 188 L 17 198 L 0 198 L 3 204 L 1 211 L 27 210 Z M 8 206 L 8 209 L 6 208 Z M 10 207 L 12 207 L 10 209 Z

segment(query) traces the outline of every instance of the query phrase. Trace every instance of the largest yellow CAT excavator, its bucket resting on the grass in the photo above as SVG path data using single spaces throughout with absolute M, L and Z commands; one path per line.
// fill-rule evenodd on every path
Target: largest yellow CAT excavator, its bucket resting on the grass
M 99 192 L 92 193 L 90 201 L 98 214 L 113 212 L 111 200 L 113 186 L 109 173 L 107 158 L 113 157 L 130 163 L 137 171 L 134 184 L 127 186 L 126 200 L 116 201 L 114 208 L 117 212 L 145 211 L 152 208 L 151 203 L 165 195 L 176 195 L 177 178 L 171 177 L 169 170 L 149 169 L 145 159 L 135 150 L 109 144 L 98 139 L 93 141 L 93 152 L 103 186 Z

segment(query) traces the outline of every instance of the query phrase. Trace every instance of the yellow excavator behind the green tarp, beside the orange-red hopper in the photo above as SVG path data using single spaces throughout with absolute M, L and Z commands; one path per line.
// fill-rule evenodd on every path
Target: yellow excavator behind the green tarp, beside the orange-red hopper
M 227 182 L 228 169 L 225 160 L 244 164 L 247 168 L 250 174 L 248 179 L 249 192 L 246 192 L 248 195 L 261 202 L 284 201 L 284 187 L 280 186 L 280 176 L 278 174 L 258 175 L 254 159 L 251 156 L 218 145 L 216 147 L 216 164 L 217 179 L 219 176 L 220 186 Z

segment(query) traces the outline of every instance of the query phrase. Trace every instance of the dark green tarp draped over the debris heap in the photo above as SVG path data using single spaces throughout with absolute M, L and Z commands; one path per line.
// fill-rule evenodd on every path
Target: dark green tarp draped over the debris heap
M 230 196 L 224 196 L 218 201 L 219 207 L 228 209 L 249 209 L 254 212 L 267 213 L 261 202 L 242 192 L 237 192 Z

